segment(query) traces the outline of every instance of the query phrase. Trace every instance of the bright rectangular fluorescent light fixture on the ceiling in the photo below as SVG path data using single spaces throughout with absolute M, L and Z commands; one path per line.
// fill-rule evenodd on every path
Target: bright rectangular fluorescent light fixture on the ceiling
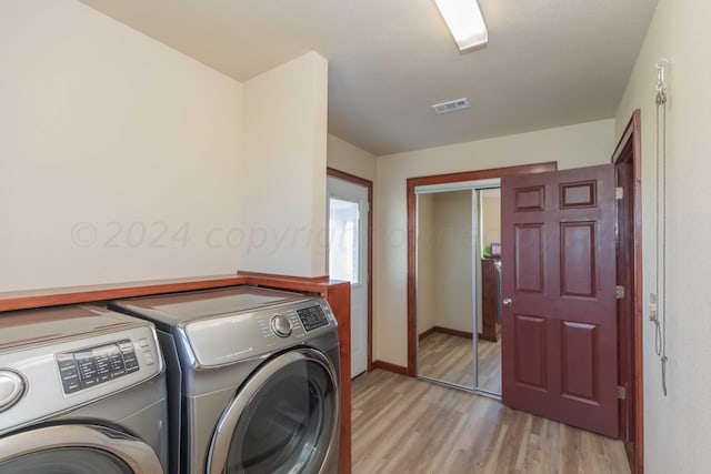
M 477 0 L 434 0 L 442 18 L 454 37 L 460 51 L 467 51 L 489 41 L 484 17 Z

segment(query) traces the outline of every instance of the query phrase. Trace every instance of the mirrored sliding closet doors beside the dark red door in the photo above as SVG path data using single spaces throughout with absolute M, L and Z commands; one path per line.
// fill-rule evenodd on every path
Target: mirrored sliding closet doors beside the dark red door
M 501 394 L 499 181 L 415 189 L 418 376 Z

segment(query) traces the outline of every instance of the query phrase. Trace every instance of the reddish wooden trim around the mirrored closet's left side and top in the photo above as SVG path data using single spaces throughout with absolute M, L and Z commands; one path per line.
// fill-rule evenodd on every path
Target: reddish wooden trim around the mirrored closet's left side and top
M 415 222 L 417 200 L 414 188 L 430 184 L 447 184 L 465 181 L 502 178 L 509 174 L 541 173 L 555 171 L 558 162 L 522 164 L 518 167 L 493 168 L 489 170 L 464 171 L 460 173 L 435 174 L 408 179 L 408 375 L 418 376 L 418 317 L 417 317 L 417 279 L 415 279 Z

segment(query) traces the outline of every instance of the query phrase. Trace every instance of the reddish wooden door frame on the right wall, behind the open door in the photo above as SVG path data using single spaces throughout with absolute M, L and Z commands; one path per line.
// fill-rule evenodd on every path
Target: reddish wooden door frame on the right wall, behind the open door
M 620 337 L 618 365 L 623 375 L 620 380 L 622 386 L 629 387 L 625 400 L 620 402 L 621 427 L 631 426 L 630 430 L 621 430 L 620 436 L 624 442 L 624 447 L 632 473 L 644 472 L 644 420 L 643 420 L 643 299 L 642 299 L 642 167 L 641 167 L 641 113 L 637 109 L 632 112 L 632 118 L 628 122 L 622 138 L 620 139 L 612 163 L 615 172 L 623 167 L 628 168 L 628 180 L 623 184 L 623 200 L 630 200 L 630 213 L 620 212 L 618 214 L 618 228 L 625 226 L 631 233 L 623 233 L 623 240 L 618 236 L 618 248 L 620 252 L 628 255 L 632 261 L 630 271 L 618 275 L 618 284 L 625 289 L 625 299 L 630 299 L 629 304 L 618 305 L 618 321 L 625 324 L 623 334 Z M 631 171 L 631 173 L 629 172 Z M 620 208 L 618 208 L 620 209 Z M 629 220 L 632 219 L 632 222 Z M 627 236 L 627 239 L 624 239 Z M 629 310 L 628 310 L 629 309 Z M 627 313 L 631 314 L 627 314 Z M 622 417 L 624 416 L 624 420 Z

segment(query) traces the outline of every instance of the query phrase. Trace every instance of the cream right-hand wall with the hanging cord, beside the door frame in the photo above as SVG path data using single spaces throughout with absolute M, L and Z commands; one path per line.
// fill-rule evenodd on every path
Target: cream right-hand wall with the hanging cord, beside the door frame
M 644 309 L 644 457 L 648 473 L 709 471 L 711 410 L 711 2 L 660 0 L 617 114 L 617 137 L 632 111 L 642 115 L 643 286 L 655 274 L 655 81 L 654 62 L 668 70 L 667 352 L 669 396 L 661 390 L 654 331 Z

